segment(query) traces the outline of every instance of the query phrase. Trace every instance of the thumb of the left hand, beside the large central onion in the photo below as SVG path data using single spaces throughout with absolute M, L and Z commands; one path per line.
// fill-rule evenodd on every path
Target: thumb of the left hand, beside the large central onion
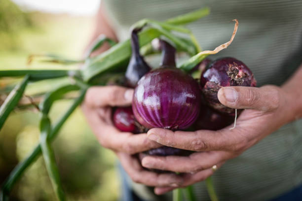
M 119 86 L 90 87 L 85 104 L 90 107 L 127 106 L 132 102 L 133 89 Z

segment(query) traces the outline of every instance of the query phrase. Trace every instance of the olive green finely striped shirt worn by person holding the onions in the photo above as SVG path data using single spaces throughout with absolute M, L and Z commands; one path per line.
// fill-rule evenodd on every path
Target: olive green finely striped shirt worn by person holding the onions
M 209 6 L 211 14 L 188 25 L 203 50 L 229 40 L 232 19 L 239 29 L 232 44 L 211 57 L 232 56 L 252 69 L 258 86 L 282 85 L 302 63 L 302 0 L 103 0 L 119 39 L 143 18 L 165 20 Z M 302 88 L 302 86 L 301 86 Z M 264 125 L 265 126 L 265 125 Z M 220 201 L 265 201 L 302 184 L 302 121 L 270 134 L 213 176 Z M 156 197 L 149 188 L 132 184 L 145 200 Z M 209 200 L 204 182 L 194 185 L 198 200 Z

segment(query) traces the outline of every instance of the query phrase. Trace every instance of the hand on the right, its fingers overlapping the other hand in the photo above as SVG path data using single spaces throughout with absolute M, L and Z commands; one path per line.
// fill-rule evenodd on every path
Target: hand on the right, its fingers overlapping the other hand
M 288 97 L 285 91 L 276 86 L 224 87 L 218 92 L 220 102 L 231 108 L 246 109 L 237 119 L 235 129 L 229 130 L 232 125 L 219 131 L 173 132 L 159 128 L 151 129 L 148 132 L 149 139 L 196 153 L 189 157 L 146 156 L 142 160 L 142 165 L 148 168 L 187 172 L 183 177 L 184 183 L 179 187 L 204 180 L 214 173 L 212 169 L 214 165 L 222 166 L 228 159 L 240 155 L 266 135 L 289 122 L 291 111 L 287 106 Z M 155 193 L 163 194 L 172 189 L 174 188 L 156 187 Z

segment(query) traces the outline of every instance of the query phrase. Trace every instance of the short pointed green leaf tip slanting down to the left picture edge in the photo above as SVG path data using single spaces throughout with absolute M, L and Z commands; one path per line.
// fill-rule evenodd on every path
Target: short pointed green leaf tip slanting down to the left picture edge
M 8 97 L 5 99 L 0 107 L 0 130 L 7 119 L 9 113 L 18 104 L 19 100 L 22 98 L 25 87 L 28 83 L 29 76 L 26 75 L 22 82 L 15 86 L 15 88 L 9 93 Z

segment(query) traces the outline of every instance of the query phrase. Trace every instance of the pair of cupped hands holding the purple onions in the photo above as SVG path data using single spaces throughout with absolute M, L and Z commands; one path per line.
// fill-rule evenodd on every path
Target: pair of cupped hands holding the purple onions
M 220 102 L 245 109 L 233 130 L 229 130 L 233 126 L 230 125 L 219 131 L 173 132 L 154 128 L 147 134 L 120 132 L 113 125 L 112 107 L 130 105 L 132 96 L 133 90 L 124 87 L 91 87 L 82 109 L 100 144 L 116 153 L 134 182 L 154 186 L 158 195 L 205 180 L 214 173 L 214 165 L 221 167 L 290 119 L 286 109 L 289 95 L 279 87 L 224 87 L 218 92 Z M 196 152 L 187 157 L 146 156 L 141 163 L 133 156 L 162 145 Z M 156 173 L 143 167 L 182 174 Z

